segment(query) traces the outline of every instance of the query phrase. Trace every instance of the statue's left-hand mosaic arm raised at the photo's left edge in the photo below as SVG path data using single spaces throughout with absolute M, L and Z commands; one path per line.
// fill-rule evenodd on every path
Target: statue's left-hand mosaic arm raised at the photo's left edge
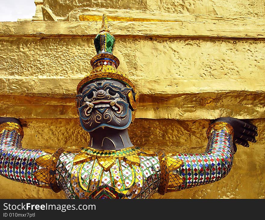
M 22 148 L 22 138 L 18 119 L 0 117 L 0 174 L 14 181 L 52 188 L 55 181 L 48 181 L 53 178 L 48 172 L 56 166 L 51 161 L 56 152 Z

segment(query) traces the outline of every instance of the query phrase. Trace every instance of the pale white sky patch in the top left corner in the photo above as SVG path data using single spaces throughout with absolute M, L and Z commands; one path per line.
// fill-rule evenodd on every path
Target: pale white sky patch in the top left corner
M 0 0 L 0 22 L 32 19 L 35 11 L 34 0 Z

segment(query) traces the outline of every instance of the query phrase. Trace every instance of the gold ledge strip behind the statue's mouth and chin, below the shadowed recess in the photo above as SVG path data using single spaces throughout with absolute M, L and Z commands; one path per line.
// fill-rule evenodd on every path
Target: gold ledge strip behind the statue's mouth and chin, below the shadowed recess
M 265 118 L 265 105 L 222 105 L 214 108 L 195 106 L 142 107 L 136 118 L 200 120 L 219 117 L 244 119 Z M 67 105 L 1 105 L 0 117 L 78 118 L 75 106 Z

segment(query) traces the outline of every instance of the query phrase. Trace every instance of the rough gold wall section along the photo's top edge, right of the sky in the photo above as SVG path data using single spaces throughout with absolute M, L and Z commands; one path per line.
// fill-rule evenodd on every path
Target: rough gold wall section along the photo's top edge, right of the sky
M 120 0 L 117 1 L 85 1 L 75 0 L 61 1 L 61 0 L 44 0 L 46 8 L 51 10 L 51 13 L 59 18 L 66 18 L 70 12 L 78 8 L 97 8 L 97 9 L 131 9 L 143 11 L 160 11 L 171 14 L 205 14 L 205 15 L 220 15 L 220 16 L 235 16 L 235 17 L 264 17 L 264 2 L 263 1 L 226 1 L 218 0 Z

